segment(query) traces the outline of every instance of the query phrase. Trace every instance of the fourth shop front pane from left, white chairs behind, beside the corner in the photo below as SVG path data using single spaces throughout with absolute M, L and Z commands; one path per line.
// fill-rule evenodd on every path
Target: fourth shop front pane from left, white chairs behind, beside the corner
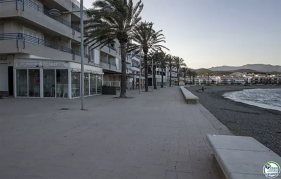
M 68 98 L 68 70 L 57 69 L 56 70 L 56 97 Z

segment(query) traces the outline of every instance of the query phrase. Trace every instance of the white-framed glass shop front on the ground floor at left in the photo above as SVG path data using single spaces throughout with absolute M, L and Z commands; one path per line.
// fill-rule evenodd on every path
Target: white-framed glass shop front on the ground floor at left
M 16 97 L 64 98 L 81 96 L 81 69 L 75 62 L 14 59 Z M 102 69 L 84 65 L 85 96 L 102 94 Z

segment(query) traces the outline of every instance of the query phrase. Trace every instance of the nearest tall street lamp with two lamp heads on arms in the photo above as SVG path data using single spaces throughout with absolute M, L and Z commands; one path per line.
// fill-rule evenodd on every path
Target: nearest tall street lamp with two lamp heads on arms
M 48 11 L 48 13 L 52 16 L 60 16 L 62 14 L 69 14 L 69 13 L 75 13 L 75 12 L 80 12 L 80 57 L 81 57 L 81 109 L 84 110 L 84 12 L 92 12 L 92 11 L 103 11 L 107 13 L 112 13 L 115 12 L 115 8 L 112 5 L 106 5 L 102 9 L 97 9 L 97 10 L 83 10 L 83 0 L 80 0 L 80 11 L 68 11 L 68 12 L 61 12 L 58 9 L 51 9 Z

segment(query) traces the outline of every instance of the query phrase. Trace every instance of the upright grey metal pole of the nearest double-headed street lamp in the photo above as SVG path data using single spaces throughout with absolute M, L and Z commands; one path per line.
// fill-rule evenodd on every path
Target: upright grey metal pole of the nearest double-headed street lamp
M 81 57 L 81 110 L 84 110 L 84 13 L 83 0 L 80 0 L 80 57 Z

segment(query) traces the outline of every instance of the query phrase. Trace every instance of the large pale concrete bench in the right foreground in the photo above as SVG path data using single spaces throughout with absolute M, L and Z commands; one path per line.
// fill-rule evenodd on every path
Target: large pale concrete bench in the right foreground
M 267 162 L 281 164 L 278 155 L 252 137 L 208 134 L 207 141 L 215 163 L 227 179 L 265 179 L 263 167 Z

